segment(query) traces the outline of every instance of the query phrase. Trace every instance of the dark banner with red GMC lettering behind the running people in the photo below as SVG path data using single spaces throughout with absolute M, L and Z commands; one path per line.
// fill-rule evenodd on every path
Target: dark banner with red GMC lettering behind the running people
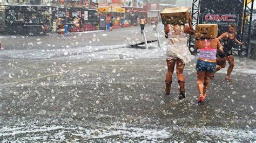
M 218 35 L 228 31 L 228 25 L 237 26 L 240 38 L 242 26 L 243 1 L 238 0 L 201 0 L 199 24 L 218 24 Z

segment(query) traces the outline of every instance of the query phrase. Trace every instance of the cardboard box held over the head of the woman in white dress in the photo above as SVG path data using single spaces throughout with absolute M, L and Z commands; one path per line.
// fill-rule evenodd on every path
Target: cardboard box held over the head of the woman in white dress
M 190 21 L 190 8 L 177 7 L 165 8 L 161 13 L 161 19 L 166 24 L 186 24 Z

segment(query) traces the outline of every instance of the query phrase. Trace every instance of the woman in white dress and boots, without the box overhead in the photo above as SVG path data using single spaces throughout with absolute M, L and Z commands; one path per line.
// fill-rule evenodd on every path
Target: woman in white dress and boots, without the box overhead
M 183 75 L 183 69 L 185 63 L 190 62 L 193 59 L 188 47 L 187 47 L 187 35 L 193 34 L 193 26 L 191 25 L 191 17 L 189 18 L 188 26 L 184 24 L 166 24 L 165 25 L 165 38 L 168 38 L 169 45 L 166 52 L 167 73 L 166 73 L 166 95 L 170 95 L 172 75 L 174 67 L 176 65 L 176 73 L 179 83 L 179 99 L 185 98 L 185 77 Z

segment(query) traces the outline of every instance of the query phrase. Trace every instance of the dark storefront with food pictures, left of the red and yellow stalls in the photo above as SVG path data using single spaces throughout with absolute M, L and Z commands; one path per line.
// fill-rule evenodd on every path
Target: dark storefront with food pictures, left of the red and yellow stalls
M 70 0 L 66 8 L 56 8 L 54 10 L 54 22 L 59 25 L 68 25 L 69 32 L 82 32 L 98 30 L 99 17 L 97 13 L 98 5 L 88 1 Z

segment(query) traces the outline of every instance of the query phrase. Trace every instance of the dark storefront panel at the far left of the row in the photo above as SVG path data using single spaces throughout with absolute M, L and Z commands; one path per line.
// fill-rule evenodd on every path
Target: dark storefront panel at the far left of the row
M 38 35 L 51 30 L 51 6 L 5 6 L 6 34 Z

